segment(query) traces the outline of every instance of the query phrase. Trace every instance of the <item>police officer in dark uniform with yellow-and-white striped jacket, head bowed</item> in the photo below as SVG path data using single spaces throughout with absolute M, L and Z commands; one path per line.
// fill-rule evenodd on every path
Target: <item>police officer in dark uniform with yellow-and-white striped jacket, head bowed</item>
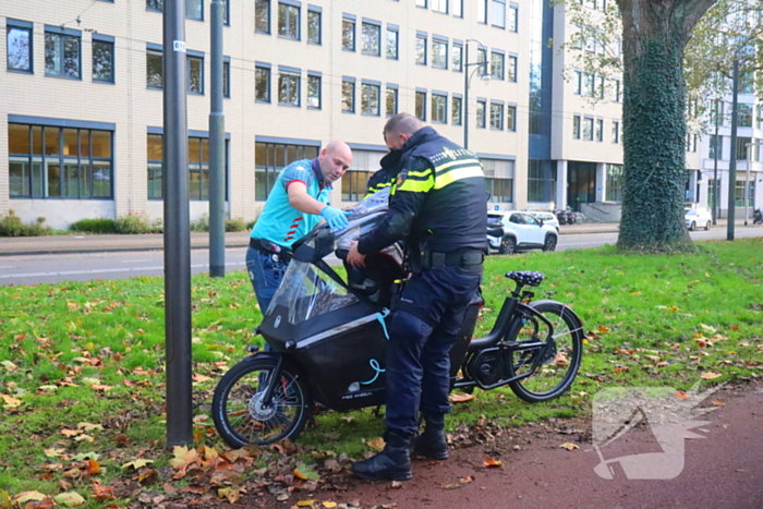
M 348 254 L 365 255 L 405 239 L 412 276 L 391 316 L 387 355 L 386 446 L 352 465 L 361 478 L 411 478 L 410 446 L 421 410 L 425 428 L 419 452 L 447 459 L 445 414 L 449 352 L 482 278 L 487 215 L 485 179 L 474 154 L 400 113 L 387 122 L 385 141 L 399 152 L 387 216 Z

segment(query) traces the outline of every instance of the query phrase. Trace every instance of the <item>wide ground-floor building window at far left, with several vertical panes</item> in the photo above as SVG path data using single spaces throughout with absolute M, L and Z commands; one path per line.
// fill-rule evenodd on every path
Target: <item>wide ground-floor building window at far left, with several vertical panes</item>
M 8 124 L 12 198 L 112 198 L 110 131 Z

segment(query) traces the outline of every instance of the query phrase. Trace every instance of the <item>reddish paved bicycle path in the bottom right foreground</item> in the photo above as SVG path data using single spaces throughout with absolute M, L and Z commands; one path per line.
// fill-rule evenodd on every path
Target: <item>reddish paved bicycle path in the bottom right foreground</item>
M 245 507 L 266 508 L 290 508 L 299 500 L 314 498 L 338 504 L 358 501 L 364 509 L 760 509 L 763 384 L 722 389 L 711 399 L 725 405 L 702 417 L 711 423 L 699 426 L 694 433 L 705 439 L 686 441 L 683 470 L 671 480 L 628 480 L 617 469 L 614 480 L 600 477 L 594 472 L 600 458 L 591 444 L 590 420 L 559 420 L 550 425 L 518 428 L 499 445 L 451 450 L 446 462 L 416 460 L 414 478 L 399 487 L 389 482 L 368 484 L 350 478 L 346 492 L 313 496 L 294 493 L 286 502 L 256 497 L 242 501 Z M 555 426 L 572 426 L 581 433 L 562 434 Z M 564 431 L 569 433 L 569 428 Z M 661 451 L 649 428 L 634 428 L 626 436 L 603 449 L 605 458 Z M 565 443 L 580 448 L 565 450 L 559 447 Z M 499 459 L 504 466 L 485 468 L 485 455 Z M 470 476 L 473 481 L 460 481 Z

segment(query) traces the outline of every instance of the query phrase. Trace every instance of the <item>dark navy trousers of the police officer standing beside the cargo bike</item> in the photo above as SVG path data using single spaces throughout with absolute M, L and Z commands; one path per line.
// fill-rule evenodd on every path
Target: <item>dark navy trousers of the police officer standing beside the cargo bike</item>
M 387 427 L 402 436 L 417 429 L 417 414 L 450 411 L 450 348 L 481 275 L 446 266 L 415 274 L 392 313 L 387 355 Z

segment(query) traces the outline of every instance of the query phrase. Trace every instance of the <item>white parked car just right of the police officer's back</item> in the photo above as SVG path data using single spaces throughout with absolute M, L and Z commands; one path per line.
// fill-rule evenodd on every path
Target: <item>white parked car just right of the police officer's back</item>
M 514 210 L 487 213 L 487 223 L 497 222 L 500 222 L 504 229 L 504 237 L 487 235 L 487 243 L 491 250 L 497 251 L 499 254 L 530 250 L 556 250 L 559 239 L 556 228 L 542 223 L 529 213 Z

